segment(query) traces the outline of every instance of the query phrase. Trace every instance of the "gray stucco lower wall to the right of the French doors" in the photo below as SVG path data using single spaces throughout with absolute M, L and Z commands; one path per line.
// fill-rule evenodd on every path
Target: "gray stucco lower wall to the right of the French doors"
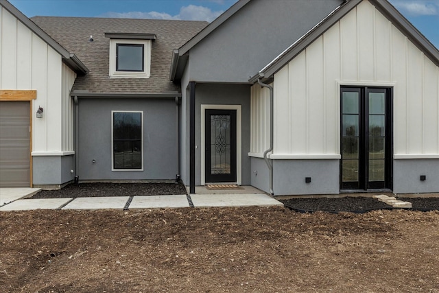
M 439 159 L 394 160 L 393 166 L 395 194 L 439 193 Z

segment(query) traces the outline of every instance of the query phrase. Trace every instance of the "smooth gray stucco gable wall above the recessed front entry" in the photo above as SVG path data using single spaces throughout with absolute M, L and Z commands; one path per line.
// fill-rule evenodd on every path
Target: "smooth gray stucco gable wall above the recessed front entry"
M 191 49 L 191 80 L 247 82 L 340 3 L 250 1 Z

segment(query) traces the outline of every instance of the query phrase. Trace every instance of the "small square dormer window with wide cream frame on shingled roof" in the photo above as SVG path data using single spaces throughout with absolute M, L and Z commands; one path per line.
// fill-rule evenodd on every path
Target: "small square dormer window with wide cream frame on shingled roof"
M 150 78 L 151 40 L 110 39 L 110 78 Z

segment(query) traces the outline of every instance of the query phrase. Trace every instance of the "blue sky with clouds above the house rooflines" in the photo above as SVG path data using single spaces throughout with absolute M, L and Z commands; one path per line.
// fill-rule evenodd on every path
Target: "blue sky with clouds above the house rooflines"
M 27 17 L 86 16 L 213 21 L 237 0 L 9 0 Z M 265 0 L 276 1 L 276 0 Z M 294 1 L 294 0 L 292 0 Z M 324 1 L 324 0 L 309 0 Z M 390 0 L 439 48 L 439 0 Z

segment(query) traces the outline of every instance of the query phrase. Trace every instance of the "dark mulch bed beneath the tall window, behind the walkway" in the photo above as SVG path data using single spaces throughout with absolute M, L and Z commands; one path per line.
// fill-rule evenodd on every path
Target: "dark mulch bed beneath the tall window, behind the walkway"
M 175 183 L 80 183 L 59 190 L 42 190 L 32 198 L 85 198 L 97 196 L 162 196 L 186 194 L 185 186 Z

